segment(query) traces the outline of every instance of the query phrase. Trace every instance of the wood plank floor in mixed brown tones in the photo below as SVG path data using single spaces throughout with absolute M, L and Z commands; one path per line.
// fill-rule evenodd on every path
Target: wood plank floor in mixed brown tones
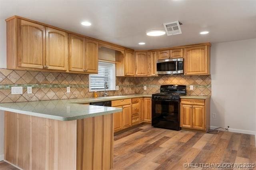
M 184 163 L 256 163 L 255 136 L 175 131 L 150 125 L 114 136 L 113 169 L 202 169 L 183 168 Z M 0 170 L 8 169 L 16 168 L 1 161 Z

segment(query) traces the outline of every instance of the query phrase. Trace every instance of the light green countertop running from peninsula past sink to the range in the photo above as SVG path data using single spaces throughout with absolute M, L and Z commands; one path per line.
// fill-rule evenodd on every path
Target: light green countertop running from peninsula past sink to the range
M 0 110 L 54 119 L 58 121 L 73 121 L 122 111 L 122 108 L 117 107 L 79 105 L 82 103 L 151 96 L 152 95 L 134 94 L 98 98 L 0 103 Z

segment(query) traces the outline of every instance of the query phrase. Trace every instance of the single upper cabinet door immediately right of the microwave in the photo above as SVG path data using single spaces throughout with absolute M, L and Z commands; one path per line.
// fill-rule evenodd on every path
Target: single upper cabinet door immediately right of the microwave
M 208 74 L 208 46 L 190 47 L 184 50 L 184 75 Z

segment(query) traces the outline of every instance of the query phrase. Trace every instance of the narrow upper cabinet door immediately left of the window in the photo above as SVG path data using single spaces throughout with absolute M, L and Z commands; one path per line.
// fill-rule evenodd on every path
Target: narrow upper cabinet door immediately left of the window
M 85 71 L 98 73 L 98 42 L 86 39 Z

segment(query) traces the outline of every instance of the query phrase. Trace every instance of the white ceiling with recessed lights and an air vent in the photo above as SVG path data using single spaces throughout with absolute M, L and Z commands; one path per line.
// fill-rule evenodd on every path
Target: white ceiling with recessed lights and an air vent
M 133 49 L 256 38 L 256 0 L 0 0 L 0 19 L 13 15 Z M 183 23 L 182 34 L 146 36 L 176 20 Z M 199 34 L 205 30 L 210 33 Z

